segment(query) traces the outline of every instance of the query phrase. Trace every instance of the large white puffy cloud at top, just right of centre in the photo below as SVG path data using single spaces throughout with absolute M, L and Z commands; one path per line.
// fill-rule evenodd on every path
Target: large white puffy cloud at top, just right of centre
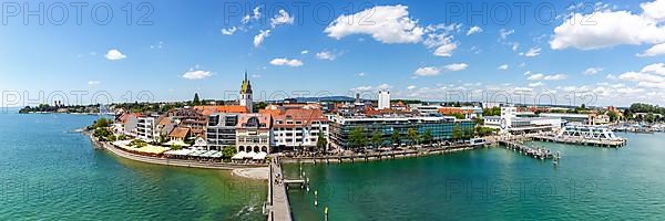
M 369 34 L 382 43 L 418 43 L 424 30 L 418 21 L 409 18 L 408 7 L 397 4 L 340 15 L 324 32 L 337 40 L 352 34 Z

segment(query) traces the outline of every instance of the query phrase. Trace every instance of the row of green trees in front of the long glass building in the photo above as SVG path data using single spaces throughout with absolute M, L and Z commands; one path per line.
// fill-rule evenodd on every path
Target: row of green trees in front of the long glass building
M 452 129 L 452 139 L 453 140 L 469 139 L 474 136 L 474 133 L 475 131 L 473 130 L 473 128 L 462 129 L 462 127 L 460 125 L 456 125 Z M 374 133 L 371 133 L 371 136 L 369 136 L 369 137 L 366 135 L 367 134 L 365 131 L 365 128 L 362 128 L 362 127 L 356 127 L 356 128 L 351 129 L 351 131 L 349 133 L 349 146 L 351 148 L 359 148 L 359 147 L 367 147 L 367 146 L 380 147 L 386 144 L 385 139 L 383 139 L 383 134 L 379 130 L 375 130 Z M 391 145 L 401 144 L 402 136 L 403 135 L 401 135 L 398 129 L 393 129 L 392 134 L 390 135 L 390 138 L 389 138 L 390 144 Z M 426 129 L 424 133 L 420 134 L 417 129 L 409 128 L 409 129 L 407 129 L 406 139 L 408 140 L 409 145 L 432 144 L 434 141 L 434 137 L 430 129 Z

